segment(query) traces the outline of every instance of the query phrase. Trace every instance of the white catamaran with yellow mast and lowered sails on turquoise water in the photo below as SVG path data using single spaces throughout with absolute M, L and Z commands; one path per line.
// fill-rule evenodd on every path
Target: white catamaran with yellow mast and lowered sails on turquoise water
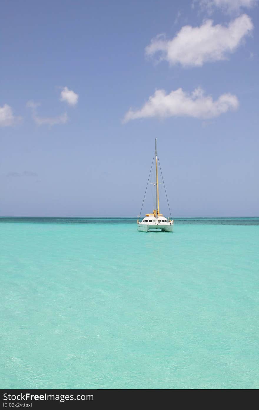
M 153 182 L 153 185 L 155 185 L 155 209 L 153 210 L 152 214 L 146 214 L 146 216 L 143 218 L 143 220 L 140 222 L 139 220 L 137 220 L 137 230 L 140 232 L 149 232 L 150 230 L 161 230 L 162 232 L 173 232 L 173 220 L 170 217 L 170 219 L 167 219 L 165 216 L 163 216 L 163 214 L 160 214 L 160 209 L 159 209 L 159 189 L 158 189 L 158 162 L 159 162 L 159 158 L 157 155 L 157 150 L 156 150 L 156 139 L 155 139 L 155 182 Z M 151 169 L 150 169 L 150 173 L 149 173 L 149 178 L 150 178 L 150 174 L 151 174 L 151 170 L 153 167 L 153 162 L 154 162 L 154 157 L 153 157 L 153 161 L 152 161 L 152 165 L 151 165 Z M 159 162 L 159 166 L 160 166 L 160 162 Z M 160 171 L 161 171 L 161 167 L 160 167 Z M 161 172 L 162 175 L 162 172 Z M 162 175 L 162 180 L 164 183 L 164 178 Z M 147 186 L 149 184 L 149 179 L 146 185 L 146 189 Z M 165 187 L 164 187 L 165 190 Z M 166 197 L 167 197 L 167 192 L 165 191 Z M 144 194 L 144 199 L 146 196 L 146 191 Z M 144 203 L 144 199 L 142 202 L 142 207 L 143 207 L 143 203 Z M 167 199 L 167 203 L 168 203 L 168 199 Z M 141 211 L 142 211 L 142 207 L 140 210 L 140 214 L 139 214 L 139 218 L 141 215 Z M 169 203 L 168 203 L 168 207 L 169 207 Z M 170 212 L 170 207 L 169 207 L 169 212 Z M 171 214 L 171 212 L 170 212 Z

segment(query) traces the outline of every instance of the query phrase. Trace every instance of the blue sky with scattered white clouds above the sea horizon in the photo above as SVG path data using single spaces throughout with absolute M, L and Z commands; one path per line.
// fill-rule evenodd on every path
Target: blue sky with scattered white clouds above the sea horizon
M 155 137 L 173 216 L 259 215 L 258 1 L 4 0 L 0 19 L 1 216 L 137 216 Z

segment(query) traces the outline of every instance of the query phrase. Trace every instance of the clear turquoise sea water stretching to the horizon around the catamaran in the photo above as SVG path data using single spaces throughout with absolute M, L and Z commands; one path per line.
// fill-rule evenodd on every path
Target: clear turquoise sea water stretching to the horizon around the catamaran
M 259 388 L 259 218 L 135 222 L 0 218 L 0 388 Z

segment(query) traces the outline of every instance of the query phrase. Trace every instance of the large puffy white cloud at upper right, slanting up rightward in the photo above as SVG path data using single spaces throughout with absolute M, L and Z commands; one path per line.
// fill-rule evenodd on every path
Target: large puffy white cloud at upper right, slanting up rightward
M 159 35 L 145 51 L 148 56 L 160 52 L 160 61 L 167 60 L 170 65 L 202 66 L 205 62 L 226 59 L 252 29 L 253 23 L 247 14 L 237 17 L 227 27 L 207 20 L 200 27 L 182 27 L 172 40 Z

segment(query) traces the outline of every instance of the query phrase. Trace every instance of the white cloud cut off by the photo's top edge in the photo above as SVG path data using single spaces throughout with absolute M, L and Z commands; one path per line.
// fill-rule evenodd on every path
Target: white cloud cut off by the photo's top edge
M 219 8 L 223 12 L 232 13 L 240 12 L 242 8 L 252 8 L 257 4 L 258 0 L 199 0 L 198 3 L 201 9 L 206 9 L 209 14 L 212 14 L 214 8 Z

